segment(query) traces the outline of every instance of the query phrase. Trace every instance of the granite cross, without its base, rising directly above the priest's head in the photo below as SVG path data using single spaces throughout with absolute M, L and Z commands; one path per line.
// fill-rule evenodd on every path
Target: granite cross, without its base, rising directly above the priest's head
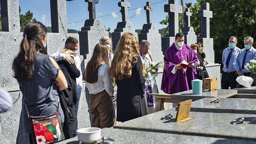
M 178 5 L 178 0 L 169 0 L 164 5 L 164 12 L 168 13 L 169 36 L 175 37 L 179 33 L 179 13 L 182 13 L 182 6 Z

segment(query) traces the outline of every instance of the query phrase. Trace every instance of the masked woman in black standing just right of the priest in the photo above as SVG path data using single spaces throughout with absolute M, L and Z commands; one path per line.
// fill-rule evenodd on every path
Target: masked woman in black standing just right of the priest
M 192 44 L 190 46 L 196 53 L 196 56 L 197 56 L 197 59 L 198 59 L 198 67 L 197 67 L 197 75 L 195 76 L 195 79 L 204 79 L 204 78 L 208 78 L 208 73 L 206 71 L 206 68 L 205 68 L 205 65 L 203 63 L 203 59 L 201 57 L 201 55 L 199 54 L 200 53 L 200 49 L 198 47 L 197 44 Z

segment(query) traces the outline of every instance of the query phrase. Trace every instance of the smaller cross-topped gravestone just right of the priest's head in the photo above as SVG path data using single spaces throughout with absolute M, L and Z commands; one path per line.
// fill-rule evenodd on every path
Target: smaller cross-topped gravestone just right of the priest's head
M 186 26 L 183 27 L 182 33 L 184 34 L 185 37 L 184 43 L 189 46 L 196 43 L 196 35 L 194 29 L 192 26 L 190 26 L 191 15 L 192 13 L 190 12 L 190 9 L 186 8 L 186 12 L 184 13 Z

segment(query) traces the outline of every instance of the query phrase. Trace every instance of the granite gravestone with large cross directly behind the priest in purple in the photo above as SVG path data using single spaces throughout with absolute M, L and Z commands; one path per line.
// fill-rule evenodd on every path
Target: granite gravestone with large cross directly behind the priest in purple
M 163 54 L 175 41 L 175 35 L 179 33 L 179 13 L 182 13 L 182 6 L 178 5 L 178 0 L 169 0 L 168 4 L 164 5 L 164 12 L 168 13 L 169 17 L 169 37 L 162 38 Z

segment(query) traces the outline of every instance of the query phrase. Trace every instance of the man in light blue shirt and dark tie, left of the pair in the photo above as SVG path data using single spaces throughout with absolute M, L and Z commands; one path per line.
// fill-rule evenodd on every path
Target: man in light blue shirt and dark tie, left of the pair
M 236 70 L 236 60 L 241 49 L 236 47 L 237 38 L 232 36 L 229 39 L 228 46 L 223 50 L 222 53 L 222 63 L 223 63 L 223 72 L 221 77 L 221 88 L 228 89 L 229 86 L 231 89 L 236 88 L 237 85 L 237 70 Z

